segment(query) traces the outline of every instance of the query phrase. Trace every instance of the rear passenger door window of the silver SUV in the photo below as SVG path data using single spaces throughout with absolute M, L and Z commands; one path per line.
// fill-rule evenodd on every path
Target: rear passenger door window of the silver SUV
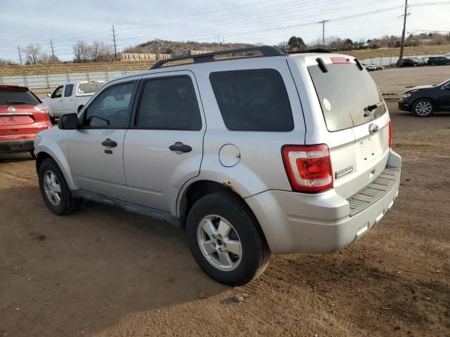
M 146 81 L 141 95 L 138 128 L 198 131 L 202 119 L 190 77 Z

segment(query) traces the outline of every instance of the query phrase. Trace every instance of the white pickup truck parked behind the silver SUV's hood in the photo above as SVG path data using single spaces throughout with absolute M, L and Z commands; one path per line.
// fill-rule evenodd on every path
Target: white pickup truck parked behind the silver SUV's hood
M 105 81 L 80 81 L 64 84 L 49 93 L 42 102 L 49 107 L 49 114 L 52 123 L 55 123 L 55 118 L 63 114 L 77 113 L 86 105 L 89 98 L 99 88 L 105 84 Z

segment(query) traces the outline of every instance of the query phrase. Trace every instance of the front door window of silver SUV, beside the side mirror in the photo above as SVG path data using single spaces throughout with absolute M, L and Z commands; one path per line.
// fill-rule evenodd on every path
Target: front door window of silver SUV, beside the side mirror
M 84 112 L 83 126 L 91 128 L 126 128 L 135 82 L 106 88 Z

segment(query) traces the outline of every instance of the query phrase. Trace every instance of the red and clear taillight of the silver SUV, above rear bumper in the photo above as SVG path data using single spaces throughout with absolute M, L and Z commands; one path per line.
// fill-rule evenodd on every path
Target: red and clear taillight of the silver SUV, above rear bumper
M 314 193 L 333 187 L 333 169 L 327 145 L 285 145 L 281 152 L 294 191 Z

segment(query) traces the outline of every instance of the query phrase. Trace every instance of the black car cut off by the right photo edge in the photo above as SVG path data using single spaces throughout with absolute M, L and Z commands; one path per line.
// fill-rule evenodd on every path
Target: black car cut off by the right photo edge
M 436 86 L 415 86 L 399 100 L 399 110 L 430 117 L 435 111 L 450 111 L 450 79 Z

